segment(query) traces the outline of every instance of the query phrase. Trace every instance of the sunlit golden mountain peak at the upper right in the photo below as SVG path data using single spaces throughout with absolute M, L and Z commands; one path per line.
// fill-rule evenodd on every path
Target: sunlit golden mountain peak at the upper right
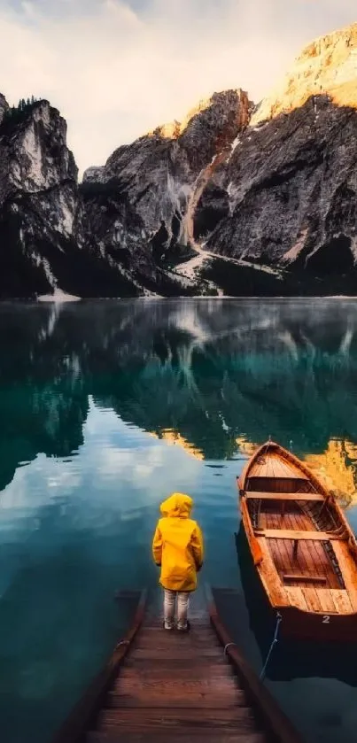
M 291 112 L 311 96 L 326 95 L 338 106 L 357 109 L 357 23 L 309 43 L 261 102 L 251 124 Z

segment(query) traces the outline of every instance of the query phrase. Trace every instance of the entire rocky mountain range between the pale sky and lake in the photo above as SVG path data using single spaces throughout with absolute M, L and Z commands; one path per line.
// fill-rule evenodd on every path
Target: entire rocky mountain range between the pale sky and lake
M 357 24 L 258 106 L 214 93 L 77 183 L 66 122 L 0 96 L 0 298 L 355 293 Z

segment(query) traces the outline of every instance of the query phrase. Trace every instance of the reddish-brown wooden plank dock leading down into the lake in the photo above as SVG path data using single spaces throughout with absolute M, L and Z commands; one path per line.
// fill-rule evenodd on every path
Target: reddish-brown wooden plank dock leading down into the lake
M 229 638 L 212 594 L 188 633 L 142 596 L 126 639 L 53 743 L 302 743 Z

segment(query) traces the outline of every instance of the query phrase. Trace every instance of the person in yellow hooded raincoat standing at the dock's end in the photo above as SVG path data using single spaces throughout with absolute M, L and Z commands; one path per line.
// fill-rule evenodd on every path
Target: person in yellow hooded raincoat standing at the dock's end
M 204 546 L 198 523 L 190 519 L 193 500 L 189 495 L 174 492 L 161 503 L 159 519 L 152 542 L 152 555 L 161 568 L 160 584 L 164 588 L 164 627 L 175 626 L 177 598 L 177 629 L 187 631 L 187 609 L 191 591 L 197 588 L 197 573 L 202 568 Z

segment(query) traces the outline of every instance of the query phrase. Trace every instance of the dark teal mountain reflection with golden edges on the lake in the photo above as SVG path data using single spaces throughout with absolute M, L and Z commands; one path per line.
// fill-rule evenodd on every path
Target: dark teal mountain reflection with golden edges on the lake
M 206 459 L 292 440 L 353 498 L 356 329 L 347 300 L 3 306 L 0 487 L 81 446 L 92 395 Z

